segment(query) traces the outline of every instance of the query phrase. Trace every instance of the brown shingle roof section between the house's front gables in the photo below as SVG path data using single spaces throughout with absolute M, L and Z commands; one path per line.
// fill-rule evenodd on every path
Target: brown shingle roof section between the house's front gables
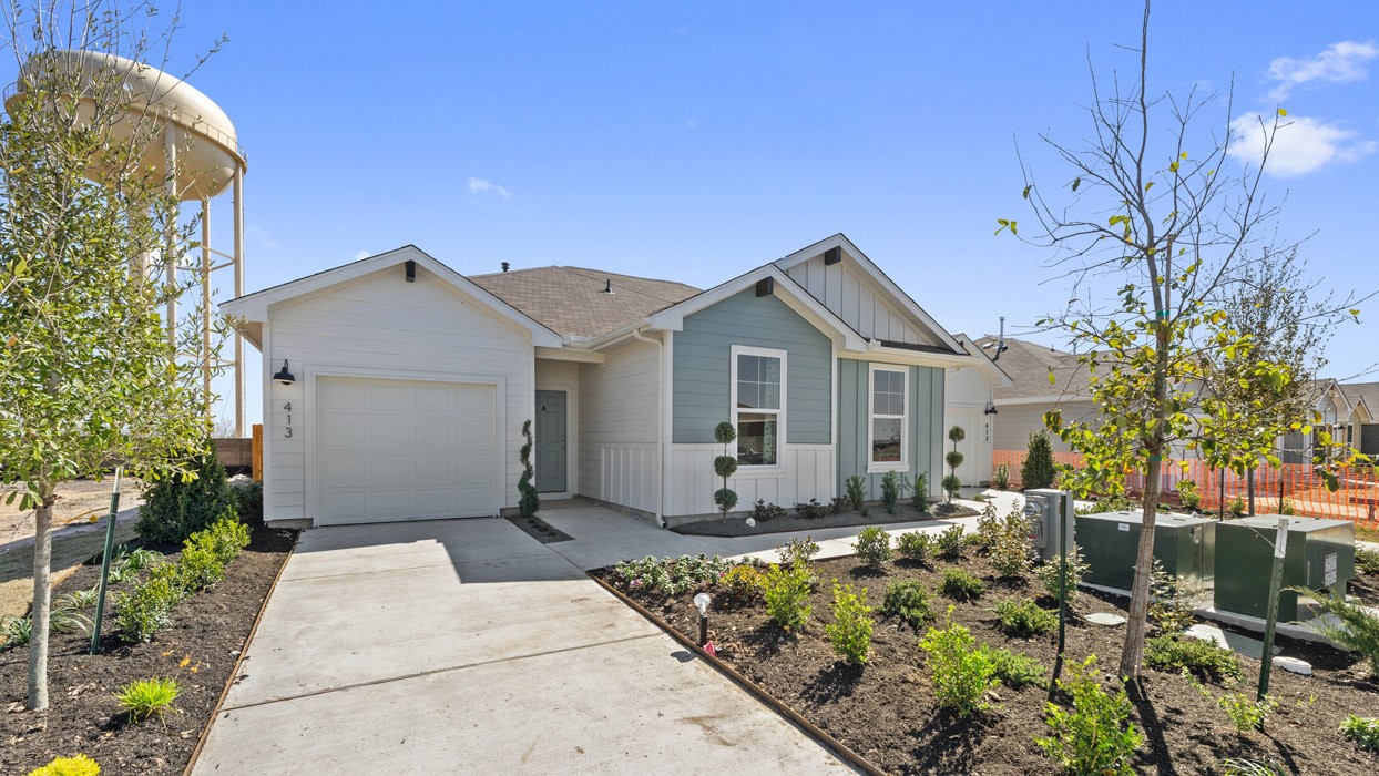
M 699 294 L 683 283 L 583 267 L 532 267 L 466 277 L 546 328 L 587 338 Z

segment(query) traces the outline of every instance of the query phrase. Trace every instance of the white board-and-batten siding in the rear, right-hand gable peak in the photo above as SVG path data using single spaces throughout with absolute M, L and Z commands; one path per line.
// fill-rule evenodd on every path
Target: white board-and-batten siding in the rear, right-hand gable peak
M 841 263 L 823 266 L 821 254 L 794 265 L 789 274 L 865 338 L 907 345 L 939 345 L 934 336 L 912 323 L 906 310 L 888 302 L 885 291 L 859 272 L 852 265 L 851 256 L 845 256 Z

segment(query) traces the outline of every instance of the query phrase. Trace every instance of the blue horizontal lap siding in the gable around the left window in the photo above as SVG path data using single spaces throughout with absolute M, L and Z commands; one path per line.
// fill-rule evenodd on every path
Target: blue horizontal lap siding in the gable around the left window
M 713 427 L 731 420 L 734 345 L 787 353 L 785 444 L 830 444 L 833 343 L 785 302 L 753 289 L 685 316 L 674 334 L 672 441 L 713 442 Z

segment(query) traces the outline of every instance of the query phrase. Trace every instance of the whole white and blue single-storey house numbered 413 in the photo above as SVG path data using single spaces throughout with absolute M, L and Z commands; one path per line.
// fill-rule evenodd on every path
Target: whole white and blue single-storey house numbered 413
M 263 353 L 265 517 L 314 525 L 512 510 L 528 420 L 538 491 L 658 520 L 714 511 L 724 420 L 739 510 L 938 492 L 947 369 L 1008 382 L 841 234 L 702 292 L 405 247 L 222 310 Z

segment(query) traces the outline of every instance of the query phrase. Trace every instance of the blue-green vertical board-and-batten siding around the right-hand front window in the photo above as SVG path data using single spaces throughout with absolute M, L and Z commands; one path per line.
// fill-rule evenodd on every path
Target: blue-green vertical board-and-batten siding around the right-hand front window
M 909 367 L 909 480 L 916 473 L 928 471 L 929 493 L 939 492 L 943 477 L 943 369 Z M 881 498 L 881 477 L 867 474 L 867 416 L 870 390 L 870 363 L 852 358 L 838 360 L 838 493 L 847 492 L 847 478 L 860 474 L 866 480 L 867 499 Z

